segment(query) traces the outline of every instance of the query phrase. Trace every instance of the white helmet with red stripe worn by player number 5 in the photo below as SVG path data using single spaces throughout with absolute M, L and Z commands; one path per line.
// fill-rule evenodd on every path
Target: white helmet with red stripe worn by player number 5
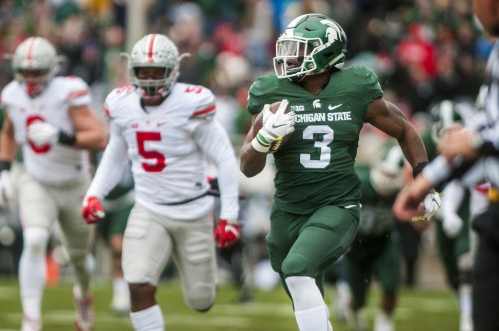
M 163 79 L 139 79 L 137 69 L 141 67 L 165 68 Z M 130 80 L 140 89 L 144 100 L 165 98 L 179 76 L 179 51 L 177 46 L 163 34 L 148 34 L 132 47 L 128 58 Z

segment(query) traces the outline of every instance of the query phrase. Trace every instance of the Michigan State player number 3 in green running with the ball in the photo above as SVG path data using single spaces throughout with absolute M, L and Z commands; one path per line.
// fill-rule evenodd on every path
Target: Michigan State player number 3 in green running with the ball
M 277 39 L 276 75 L 258 78 L 249 91 L 248 111 L 254 122 L 263 109 L 263 126 L 246 137 L 243 173 L 260 172 L 270 144 L 290 135 L 274 153 L 266 241 L 300 331 L 332 330 L 323 271 L 352 243 L 359 224 L 361 182 L 353 165 L 364 123 L 395 137 L 415 173 L 427 162 L 421 138 L 383 99 L 376 74 L 363 66 L 343 69 L 345 46 L 345 33 L 333 19 L 299 16 Z M 281 100 L 275 114 L 265 106 Z M 291 112 L 284 113 L 288 103 Z

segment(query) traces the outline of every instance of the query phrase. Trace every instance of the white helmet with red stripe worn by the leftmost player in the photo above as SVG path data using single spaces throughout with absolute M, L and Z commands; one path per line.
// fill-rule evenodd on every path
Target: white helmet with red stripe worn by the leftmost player
M 15 79 L 26 85 L 29 95 L 41 92 L 55 74 L 57 55 L 54 46 L 45 38 L 29 37 L 17 46 L 12 56 Z M 32 72 L 32 75 L 26 73 Z

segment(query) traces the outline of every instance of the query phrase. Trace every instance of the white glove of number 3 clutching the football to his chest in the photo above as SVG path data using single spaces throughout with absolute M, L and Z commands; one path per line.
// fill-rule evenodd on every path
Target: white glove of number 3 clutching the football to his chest
M 282 100 L 275 114 L 270 111 L 270 105 L 263 106 L 262 128 L 251 141 L 251 146 L 260 152 L 267 153 L 273 142 L 279 141 L 285 135 L 294 131 L 294 112 L 284 114 L 289 101 Z

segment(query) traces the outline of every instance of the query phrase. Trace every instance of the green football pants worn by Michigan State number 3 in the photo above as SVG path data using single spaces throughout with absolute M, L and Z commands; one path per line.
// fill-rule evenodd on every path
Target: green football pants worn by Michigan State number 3
M 313 214 L 282 211 L 275 203 L 270 211 L 270 231 L 266 236 L 272 269 L 288 294 L 284 279 L 308 276 L 324 295 L 324 270 L 352 243 L 359 225 L 360 207 L 323 206 Z

